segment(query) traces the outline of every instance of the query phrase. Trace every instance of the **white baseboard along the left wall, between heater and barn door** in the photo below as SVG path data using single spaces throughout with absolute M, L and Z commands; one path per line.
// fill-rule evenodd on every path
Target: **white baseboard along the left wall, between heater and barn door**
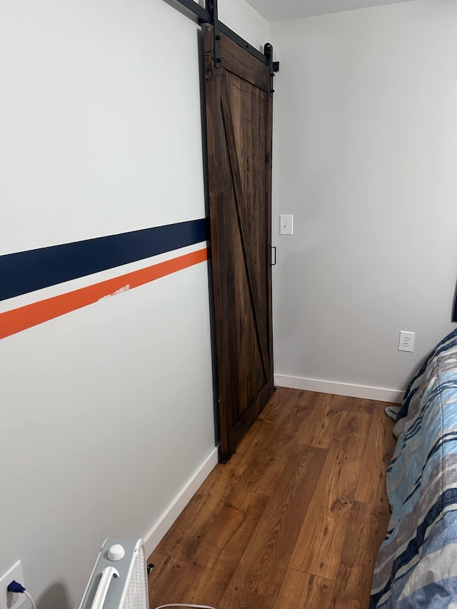
M 149 556 L 154 552 L 161 539 L 164 538 L 165 533 L 169 530 L 176 518 L 178 518 L 179 514 L 181 514 L 182 510 L 184 510 L 196 491 L 199 490 L 200 486 L 209 476 L 211 470 L 216 467 L 217 463 L 218 448 L 216 446 L 211 453 L 209 453 L 204 462 L 201 463 L 194 475 L 191 475 L 191 478 L 187 480 L 186 484 L 181 488 L 159 520 L 157 520 L 151 530 L 149 530 L 149 533 L 145 535 L 146 556 Z

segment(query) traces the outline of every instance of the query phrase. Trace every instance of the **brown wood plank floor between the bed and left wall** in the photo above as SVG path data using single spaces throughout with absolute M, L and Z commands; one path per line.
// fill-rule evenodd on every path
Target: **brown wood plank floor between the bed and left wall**
M 390 516 L 386 406 L 278 388 L 151 555 L 151 609 L 368 608 Z

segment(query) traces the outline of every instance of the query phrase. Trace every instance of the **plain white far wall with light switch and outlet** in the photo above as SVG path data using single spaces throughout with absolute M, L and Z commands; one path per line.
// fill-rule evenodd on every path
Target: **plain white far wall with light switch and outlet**
M 454 327 L 457 4 L 284 21 L 271 39 L 276 373 L 402 390 Z

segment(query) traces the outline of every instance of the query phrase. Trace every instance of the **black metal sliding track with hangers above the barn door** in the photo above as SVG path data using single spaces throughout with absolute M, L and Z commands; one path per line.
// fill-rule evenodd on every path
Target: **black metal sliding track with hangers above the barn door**
M 196 19 L 200 25 L 210 24 L 214 27 L 214 65 L 219 67 L 221 63 L 220 40 L 221 34 L 236 42 L 238 46 L 246 49 L 249 54 L 268 66 L 270 70 L 270 95 L 273 96 L 274 75 L 279 71 L 279 61 L 273 61 L 273 46 L 267 42 L 263 47 L 263 53 L 258 51 L 255 46 L 249 44 L 246 40 L 238 36 L 235 31 L 230 29 L 219 21 L 217 0 L 205 0 L 205 7 L 198 4 L 195 0 L 166 0 L 177 9 L 183 9 L 182 12 L 192 19 Z

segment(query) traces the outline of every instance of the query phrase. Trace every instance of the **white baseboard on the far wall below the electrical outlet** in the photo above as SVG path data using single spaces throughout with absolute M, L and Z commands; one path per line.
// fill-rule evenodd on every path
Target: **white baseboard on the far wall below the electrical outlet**
M 320 381 L 318 378 L 303 378 L 301 376 L 286 376 L 275 374 L 274 384 L 278 387 L 292 389 L 305 389 L 306 391 L 319 391 L 320 393 L 333 393 L 336 396 L 349 396 L 351 398 L 366 398 L 381 402 L 402 403 L 404 391 L 398 389 L 383 389 L 365 385 L 350 385 L 349 383 L 334 383 L 333 381 Z

